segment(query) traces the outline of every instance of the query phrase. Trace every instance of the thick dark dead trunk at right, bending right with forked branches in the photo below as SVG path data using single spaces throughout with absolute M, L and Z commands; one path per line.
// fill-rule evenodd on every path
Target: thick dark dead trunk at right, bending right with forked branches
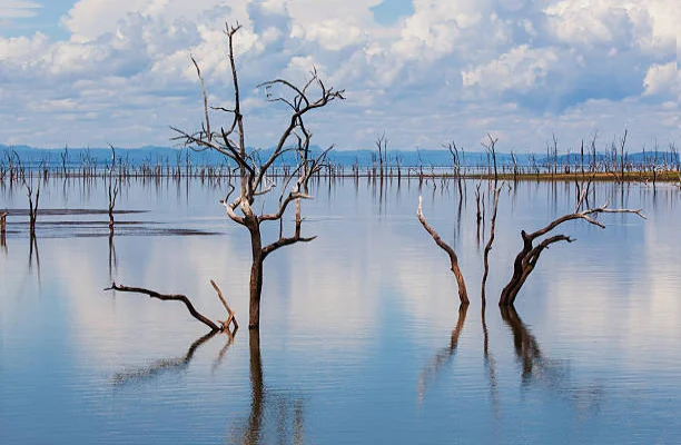
M 515 261 L 513 263 L 513 276 L 502 290 L 501 298 L 499 300 L 500 306 L 513 305 L 521 287 L 525 284 L 525 280 L 527 279 L 532 270 L 534 270 L 534 267 L 536 266 L 541 254 L 546 248 L 549 248 L 552 244 L 560 241 L 574 241 L 574 239 L 562 234 L 542 238 L 549 235 L 553 229 L 555 229 L 563 222 L 571 221 L 574 219 L 583 219 L 589 224 L 592 224 L 600 228 L 605 228 L 602 222 L 595 219 L 595 216 L 598 214 L 635 214 L 641 218 L 645 218 L 645 216 L 641 212 L 641 209 L 610 209 L 608 208 L 608 202 L 605 202 L 601 207 L 586 208 L 582 210 L 584 199 L 586 198 L 588 194 L 589 187 L 583 187 L 583 190 L 580 194 L 580 198 L 578 199 L 574 212 L 563 215 L 560 218 L 556 218 L 551 221 L 544 228 L 541 228 L 531 234 L 527 234 L 525 230 L 521 230 L 523 248 L 515 257 Z M 535 241 L 537 243 L 535 244 Z

